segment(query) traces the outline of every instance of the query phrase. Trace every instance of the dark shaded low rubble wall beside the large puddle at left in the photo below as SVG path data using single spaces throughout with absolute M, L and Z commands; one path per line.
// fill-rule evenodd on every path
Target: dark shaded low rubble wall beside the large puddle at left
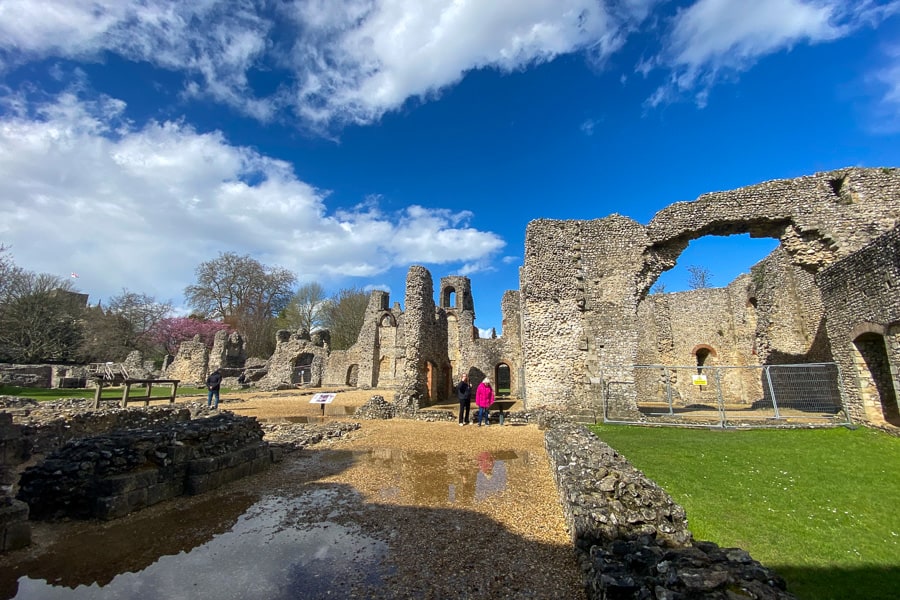
M 31 519 L 114 519 L 268 468 L 262 438 L 255 419 L 221 413 L 74 439 L 25 469 L 17 498 Z

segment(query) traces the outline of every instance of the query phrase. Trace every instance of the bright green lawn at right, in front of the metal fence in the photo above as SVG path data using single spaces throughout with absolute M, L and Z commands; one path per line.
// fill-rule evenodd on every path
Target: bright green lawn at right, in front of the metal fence
M 900 438 L 849 430 L 592 430 L 799 598 L 900 596 Z

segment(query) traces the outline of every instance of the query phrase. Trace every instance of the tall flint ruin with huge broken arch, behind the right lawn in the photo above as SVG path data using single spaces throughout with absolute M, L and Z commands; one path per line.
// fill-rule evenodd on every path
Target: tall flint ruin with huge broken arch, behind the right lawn
M 589 404 L 604 382 L 635 381 L 636 364 L 698 364 L 704 350 L 721 364 L 835 360 L 852 418 L 884 423 L 900 383 L 898 221 L 900 170 L 855 168 L 705 194 L 647 226 L 619 215 L 532 221 L 520 278 L 526 398 Z M 691 240 L 736 233 L 781 246 L 728 288 L 648 295 Z M 835 301 L 832 269 L 854 303 Z M 884 279 L 865 277 L 872 269 Z M 861 358 L 867 340 L 879 376 Z

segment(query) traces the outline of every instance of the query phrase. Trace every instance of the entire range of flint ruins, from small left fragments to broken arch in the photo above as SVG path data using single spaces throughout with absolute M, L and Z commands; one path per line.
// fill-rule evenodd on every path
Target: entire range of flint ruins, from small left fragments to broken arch
M 451 399 L 467 372 L 474 384 L 492 377 L 527 408 L 572 411 L 596 406 L 610 381 L 633 382 L 617 408 L 637 415 L 636 395 L 653 382 L 635 365 L 834 361 L 853 420 L 900 425 L 898 223 L 893 168 L 704 194 L 646 226 L 617 214 L 539 219 L 526 230 L 520 289 L 503 296 L 499 337 L 480 338 L 467 277 L 443 277 L 435 290 L 431 273 L 413 266 L 405 309 L 372 292 L 357 342 L 342 351 L 305 332 L 279 332 L 257 380 L 263 389 L 393 389 L 396 402 L 422 408 Z M 740 233 L 781 244 L 724 288 L 649 293 L 691 240 Z M 224 357 L 237 365 L 242 356 L 224 346 L 205 352 L 183 344 L 167 376 L 202 382 Z M 742 377 L 729 383 L 740 402 L 763 397 L 758 378 Z

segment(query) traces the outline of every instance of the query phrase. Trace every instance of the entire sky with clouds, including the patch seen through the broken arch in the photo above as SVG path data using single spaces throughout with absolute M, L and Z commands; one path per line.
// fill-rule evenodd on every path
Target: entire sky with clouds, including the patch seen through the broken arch
M 230 251 L 401 303 L 467 275 L 499 330 L 533 219 L 847 166 L 900 166 L 897 0 L 0 0 L 0 243 L 92 303 Z

